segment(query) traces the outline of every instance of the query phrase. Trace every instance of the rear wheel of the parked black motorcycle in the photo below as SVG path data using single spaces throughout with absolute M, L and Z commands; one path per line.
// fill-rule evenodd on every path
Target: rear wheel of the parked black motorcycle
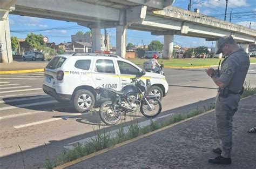
M 107 125 L 117 124 L 121 118 L 120 113 L 114 111 L 114 105 L 111 101 L 106 101 L 100 106 L 99 116 Z

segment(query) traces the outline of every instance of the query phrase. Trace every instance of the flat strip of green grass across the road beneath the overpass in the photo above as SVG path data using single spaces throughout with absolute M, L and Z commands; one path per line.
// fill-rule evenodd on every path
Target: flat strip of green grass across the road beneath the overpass
M 143 65 L 144 62 L 150 59 L 128 59 L 137 65 Z M 251 63 L 256 63 L 256 58 L 250 58 Z M 158 62 L 163 62 L 164 66 L 174 67 L 192 67 L 192 66 L 211 66 L 218 65 L 218 58 L 185 58 L 185 59 L 158 59 Z

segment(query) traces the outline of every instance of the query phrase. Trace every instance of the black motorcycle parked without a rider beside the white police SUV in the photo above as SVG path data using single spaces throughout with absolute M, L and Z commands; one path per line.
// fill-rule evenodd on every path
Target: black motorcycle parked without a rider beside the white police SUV
M 145 117 L 156 117 L 161 112 L 162 106 L 156 96 L 145 96 L 146 84 L 136 77 L 131 78 L 130 85 L 123 87 L 121 91 L 111 88 L 97 87 L 96 93 L 105 102 L 100 105 L 100 119 L 107 125 L 117 124 L 121 116 L 126 113 L 134 113 L 138 109 Z M 150 86 L 150 81 L 147 79 Z

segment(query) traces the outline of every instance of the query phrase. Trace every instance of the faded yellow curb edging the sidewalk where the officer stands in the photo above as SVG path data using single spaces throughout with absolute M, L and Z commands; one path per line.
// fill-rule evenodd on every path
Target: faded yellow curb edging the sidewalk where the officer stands
M 253 94 L 252 96 L 247 96 L 247 97 L 245 97 L 245 98 L 242 98 L 241 100 L 244 100 L 244 99 L 253 97 L 253 96 L 255 96 L 255 95 L 256 95 L 256 94 Z M 86 160 L 86 159 L 89 159 L 89 158 L 98 156 L 98 155 L 100 155 L 100 154 L 103 154 L 103 153 L 106 153 L 106 152 L 108 152 L 108 151 L 114 150 L 115 148 L 124 146 L 124 145 L 126 145 L 126 144 L 133 143 L 134 141 L 137 141 L 137 140 L 142 139 L 142 138 L 144 138 L 144 137 L 147 137 L 147 136 L 150 136 L 150 135 L 152 135 L 152 134 L 158 133 L 158 132 L 160 132 L 160 131 L 169 129 L 169 128 L 173 127 L 173 126 L 176 126 L 176 125 L 178 125 L 178 124 L 184 123 L 184 122 L 186 122 L 186 121 L 188 121 L 188 120 L 192 120 L 192 119 L 195 119 L 195 118 L 204 116 L 204 115 L 206 115 L 206 114 L 208 114 L 208 113 L 213 112 L 214 110 L 215 110 L 215 109 L 208 110 L 208 111 L 206 111 L 206 112 L 204 112 L 204 113 L 201 113 L 201 114 L 198 114 L 198 115 L 196 115 L 196 116 L 187 118 L 187 119 L 185 119 L 185 120 L 181 120 L 181 121 L 179 121 L 179 122 L 177 122 L 177 123 L 170 124 L 170 125 L 165 126 L 165 127 L 161 128 L 161 129 L 158 129 L 158 130 L 155 130 L 155 131 L 152 131 L 152 132 L 149 132 L 149 133 L 140 135 L 140 136 L 138 136 L 138 137 L 136 137 L 136 138 L 133 138 L 133 139 L 124 141 L 123 143 L 119 143 L 119 144 L 114 145 L 114 146 L 112 146 L 112 147 L 105 148 L 105 149 L 103 149 L 103 150 L 100 150 L 100 151 L 91 153 L 91 154 L 89 154 L 89 155 L 87 155 L 87 156 L 84 156 L 84 157 L 78 158 L 78 159 L 76 159 L 76 160 L 70 161 L 70 162 L 68 162 L 68 163 L 59 165 L 59 166 L 55 167 L 55 169 L 66 168 L 66 167 L 69 167 L 69 166 L 71 166 L 71 165 L 80 163 L 80 162 L 82 162 L 82 161 L 84 161 L 84 160 Z

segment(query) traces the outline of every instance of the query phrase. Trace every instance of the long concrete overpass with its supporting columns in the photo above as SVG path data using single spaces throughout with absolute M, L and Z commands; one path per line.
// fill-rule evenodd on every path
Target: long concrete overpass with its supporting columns
M 217 40 L 232 35 L 237 42 L 255 43 L 256 31 L 172 5 L 173 0 L 0 0 L 2 62 L 11 62 L 8 13 L 77 22 L 92 32 L 92 50 L 100 49 L 100 29 L 116 28 L 117 55 L 125 56 L 126 30 L 164 35 L 164 57 L 172 56 L 173 36 Z M 2 26 L 3 25 L 3 26 Z

